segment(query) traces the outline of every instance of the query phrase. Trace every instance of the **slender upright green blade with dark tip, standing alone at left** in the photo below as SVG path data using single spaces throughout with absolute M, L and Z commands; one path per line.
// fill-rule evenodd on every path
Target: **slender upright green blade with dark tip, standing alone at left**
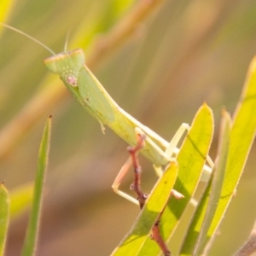
M 26 230 L 26 239 L 21 253 L 22 256 L 33 255 L 37 243 L 40 209 L 42 204 L 42 195 L 44 187 L 44 176 L 48 162 L 50 125 L 51 119 L 49 118 L 44 127 L 44 134 L 39 149 L 38 170 L 35 179 L 35 187 L 32 200 L 32 211 L 29 218 L 28 227 Z

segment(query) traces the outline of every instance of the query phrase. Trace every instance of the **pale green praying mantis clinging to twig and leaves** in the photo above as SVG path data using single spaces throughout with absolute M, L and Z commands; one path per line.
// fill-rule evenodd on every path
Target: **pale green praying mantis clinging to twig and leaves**
M 113 101 L 113 98 L 109 96 L 107 90 L 104 89 L 94 74 L 90 72 L 90 69 L 86 67 L 82 49 L 65 51 L 56 55 L 37 39 L 30 37 L 24 32 L 20 32 L 12 26 L 3 23 L 0 24 L 25 35 L 27 38 L 44 46 L 45 49 L 48 49 L 52 56 L 44 60 L 45 66 L 50 72 L 57 74 L 61 78 L 67 90 L 70 91 L 76 101 L 79 102 L 91 116 L 98 120 L 102 131 L 104 131 L 104 125 L 108 126 L 119 137 L 125 140 L 126 143 L 131 145 L 131 147 L 136 147 L 143 137 L 143 146 L 139 148 L 139 153 L 143 154 L 153 164 L 154 170 L 158 176 L 164 172 L 162 166 L 167 166 L 178 153 L 177 144 L 183 137 L 184 132 L 189 131 L 189 125 L 183 123 L 172 138 L 172 141 L 170 143 L 167 142 L 157 133 L 133 118 L 129 113 L 126 113 L 124 109 L 120 108 L 119 105 Z M 122 182 L 132 163 L 132 157 L 129 157 L 115 178 L 112 188 L 118 195 L 140 205 L 136 198 L 119 190 L 119 184 Z M 209 156 L 207 156 L 207 163 L 209 166 L 205 165 L 204 171 L 211 172 L 214 165 Z M 177 198 L 182 197 L 177 191 L 172 191 L 172 193 L 177 196 Z M 142 205 L 140 206 L 142 207 Z

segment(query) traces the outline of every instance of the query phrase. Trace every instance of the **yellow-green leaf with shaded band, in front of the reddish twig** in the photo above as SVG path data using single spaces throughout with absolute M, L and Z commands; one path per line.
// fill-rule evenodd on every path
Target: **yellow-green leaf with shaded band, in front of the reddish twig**
M 162 177 L 159 178 L 135 224 L 125 236 L 125 239 L 121 241 L 119 247 L 114 250 L 112 256 L 135 256 L 138 254 L 160 212 L 166 206 L 176 177 L 177 162 L 173 161 Z M 151 240 L 151 243 L 155 244 L 155 241 Z

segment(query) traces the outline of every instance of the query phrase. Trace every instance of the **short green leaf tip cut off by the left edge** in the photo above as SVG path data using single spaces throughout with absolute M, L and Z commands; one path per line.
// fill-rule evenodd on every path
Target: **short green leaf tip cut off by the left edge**
M 7 189 L 0 184 L 0 256 L 3 256 L 7 228 L 9 223 L 9 194 Z

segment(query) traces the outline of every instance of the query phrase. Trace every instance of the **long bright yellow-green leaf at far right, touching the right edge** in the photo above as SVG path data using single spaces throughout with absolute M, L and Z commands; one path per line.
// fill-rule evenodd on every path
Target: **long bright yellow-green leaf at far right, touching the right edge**
M 220 201 L 212 225 L 207 233 L 211 237 L 224 216 L 224 212 L 236 191 L 236 186 L 252 147 L 256 131 L 256 57 L 250 64 L 247 79 L 236 107 L 230 133 L 230 150 Z

